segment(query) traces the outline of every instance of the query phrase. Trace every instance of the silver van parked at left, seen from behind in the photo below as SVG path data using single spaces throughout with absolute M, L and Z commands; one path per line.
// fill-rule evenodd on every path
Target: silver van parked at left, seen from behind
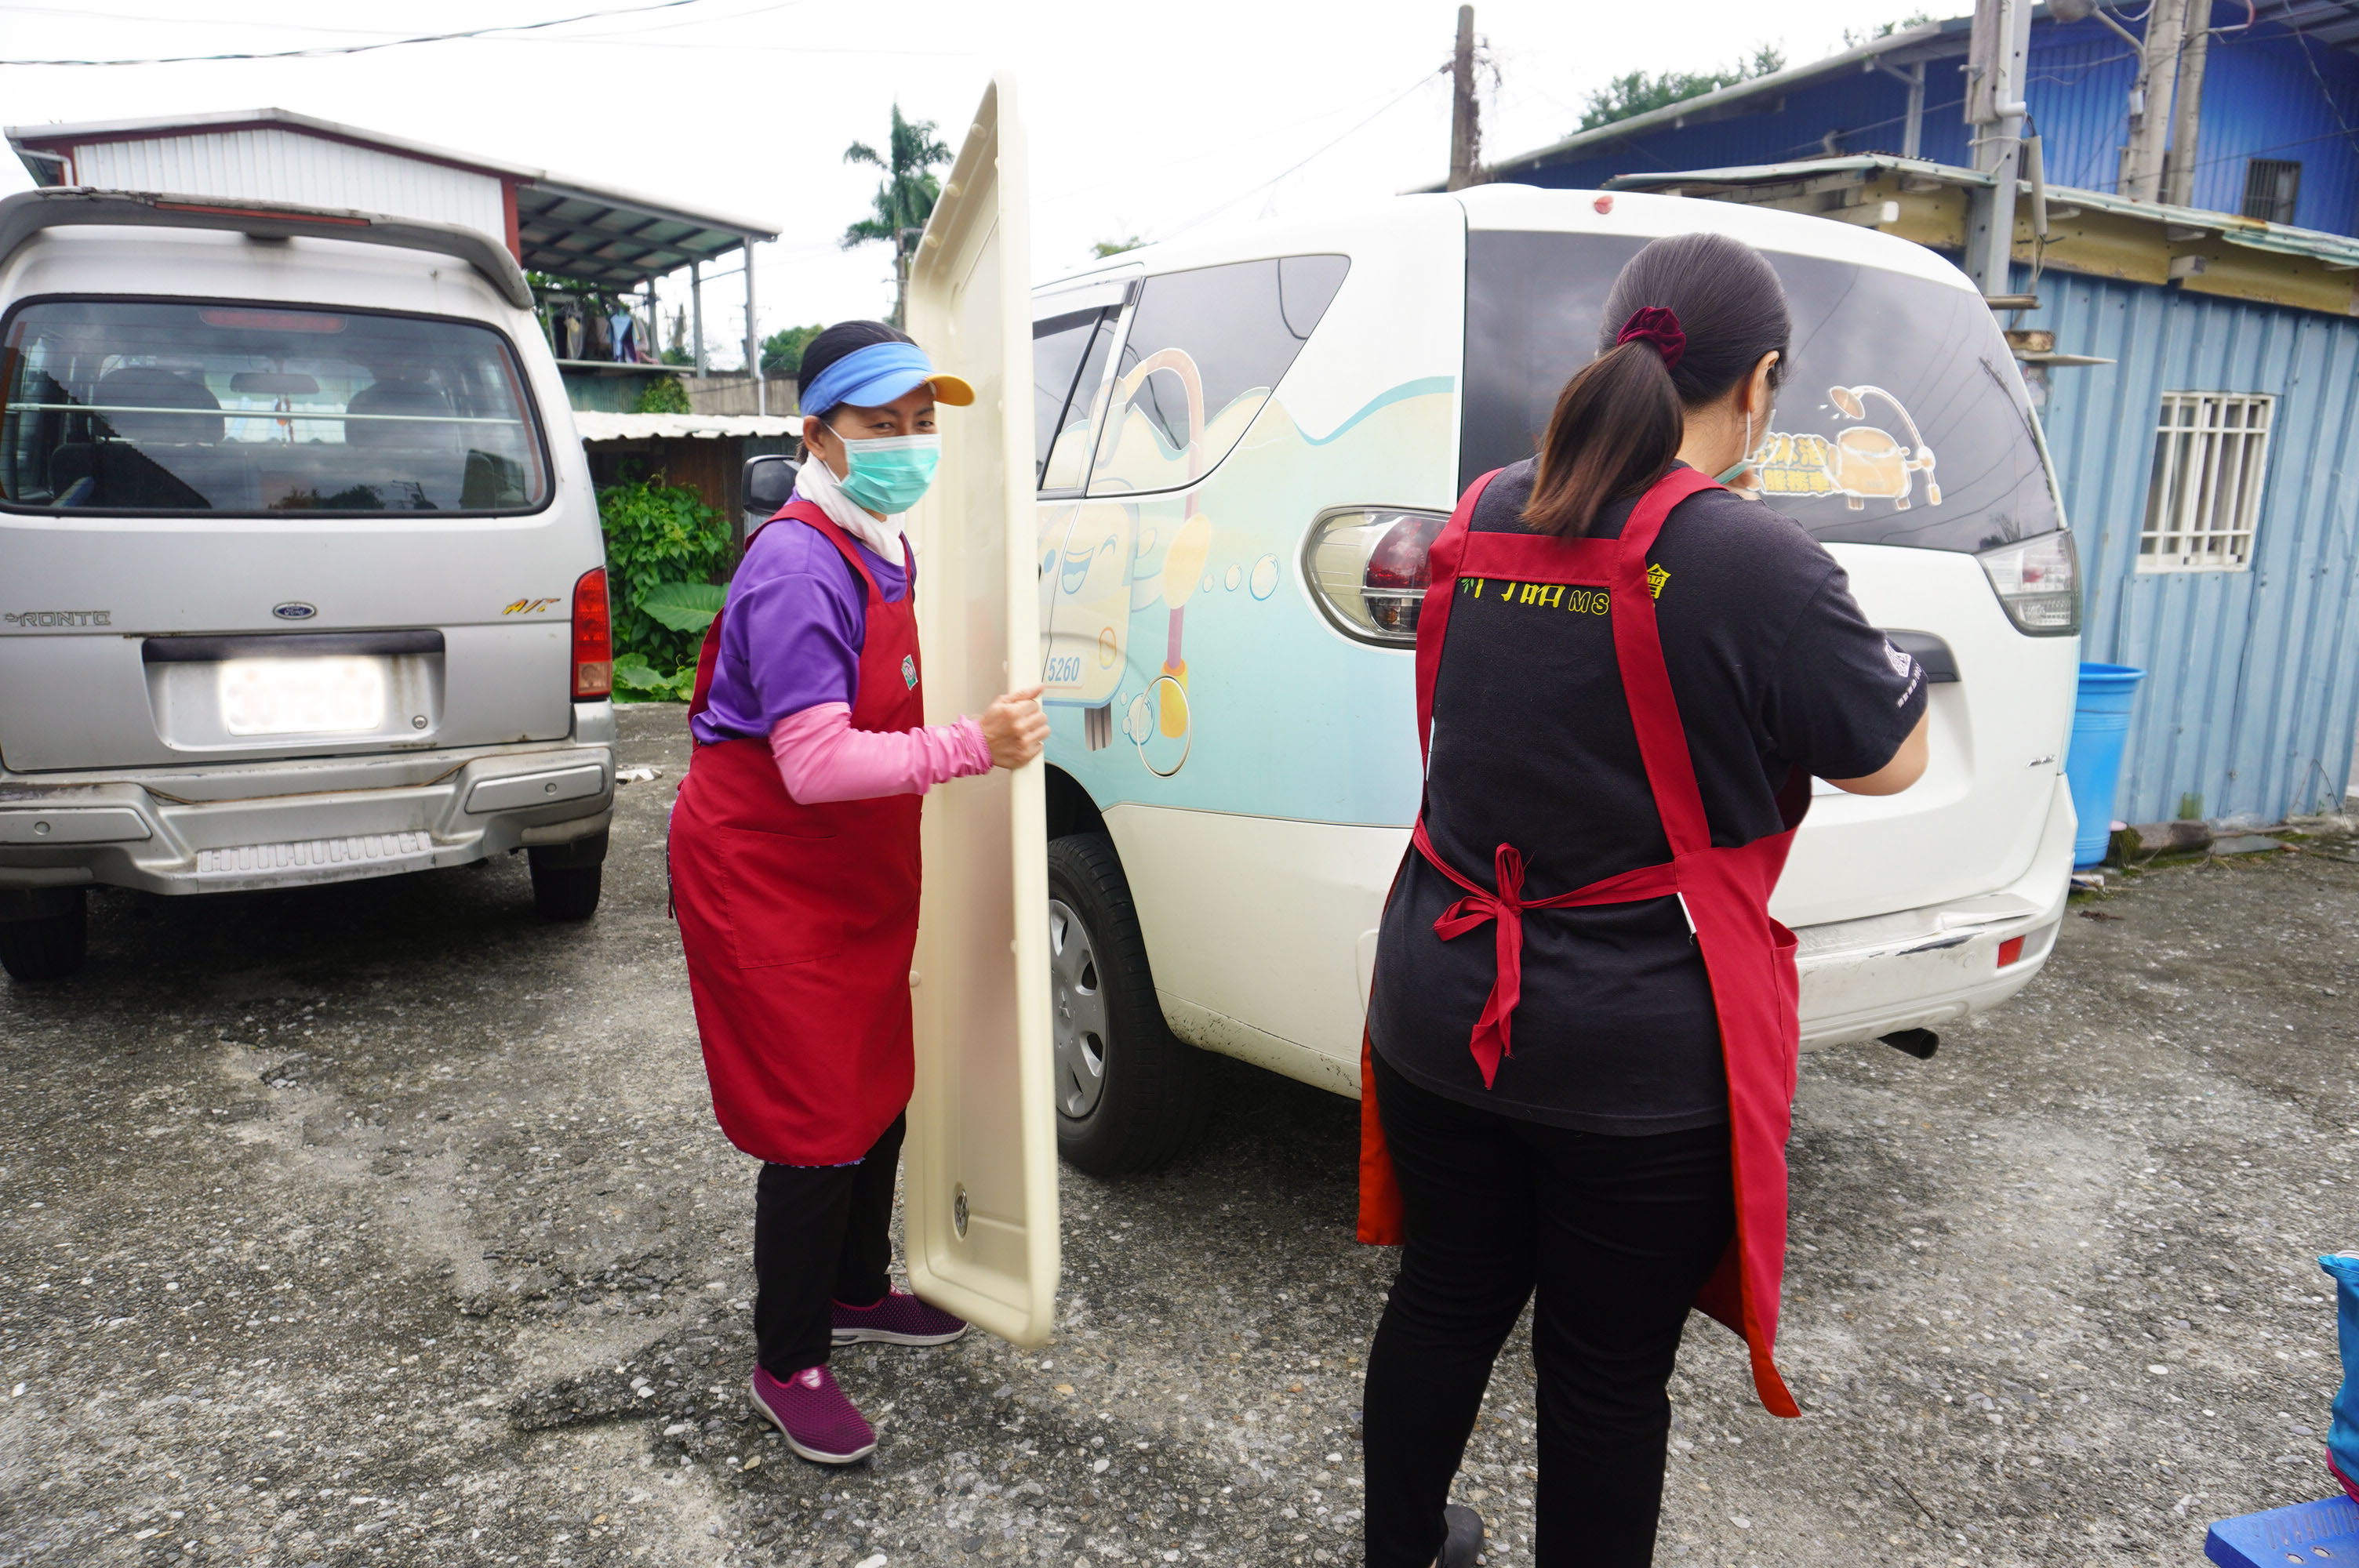
M 0 200 L 0 964 L 92 884 L 524 849 L 597 908 L 597 502 L 491 236 L 90 189 Z

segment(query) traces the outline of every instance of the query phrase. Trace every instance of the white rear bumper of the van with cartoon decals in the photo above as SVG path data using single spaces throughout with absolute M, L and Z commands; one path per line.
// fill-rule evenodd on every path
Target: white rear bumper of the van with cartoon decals
M 2071 795 L 2059 776 L 2031 868 L 2012 884 L 1958 903 L 1798 929 L 1802 1047 L 1958 1023 L 2029 986 L 2064 920 L 2071 835 Z M 2000 967 L 2000 948 L 2015 938 L 2019 957 Z

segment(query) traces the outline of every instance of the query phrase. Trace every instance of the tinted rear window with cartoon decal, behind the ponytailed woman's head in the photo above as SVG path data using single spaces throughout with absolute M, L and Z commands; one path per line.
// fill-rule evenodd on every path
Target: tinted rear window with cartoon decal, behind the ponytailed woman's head
M 1467 236 L 1460 488 L 1531 457 L 1642 243 Z M 1767 255 L 1793 311 L 1793 363 L 1753 448 L 1762 500 L 1828 542 L 1974 552 L 2064 526 L 2005 337 L 1974 295 Z

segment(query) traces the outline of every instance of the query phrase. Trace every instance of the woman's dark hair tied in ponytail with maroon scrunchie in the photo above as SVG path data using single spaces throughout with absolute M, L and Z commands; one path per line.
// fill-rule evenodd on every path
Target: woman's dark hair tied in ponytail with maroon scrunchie
M 1606 295 L 1597 358 L 1557 394 L 1524 526 L 1583 538 L 1597 514 L 1670 472 L 1687 410 L 1727 394 L 1765 354 L 1786 363 L 1786 290 L 1757 250 L 1680 233 L 1640 250 Z

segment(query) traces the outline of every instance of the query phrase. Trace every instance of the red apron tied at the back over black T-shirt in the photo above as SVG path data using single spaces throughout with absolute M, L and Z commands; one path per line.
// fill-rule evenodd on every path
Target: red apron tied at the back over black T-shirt
M 1715 849 L 1703 816 L 1703 795 L 1687 755 L 1687 731 L 1663 665 L 1663 639 L 1654 620 L 1647 552 L 1670 509 L 1713 481 L 1694 469 L 1665 474 L 1630 514 L 1618 540 L 1557 540 L 1533 533 L 1474 533 L 1474 502 L 1496 474 L 1484 474 L 1458 502 L 1448 528 L 1434 540 L 1432 585 L 1418 618 L 1418 740 L 1430 745 L 1434 724 L 1434 674 L 1448 634 L 1458 578 L 1512 582 L 1564 582 L 1611 592 L 1614 660 L 1621 667 L 1630 724 L 1654 790 L 1670 861 L 1621 872 L 1555 898 L 1522 898 L 1524 856 L 1500 844 L 1493 884 L 1481 887 L 1444 865 L 1420 821 L 1411 839 L 1434 868 L 1465 889 L 1434 931 L 1448 941 L 1493 922 L 1498 979 L 1474 1023 L 1470 1049 L 1484 1082 L 1512 1054 L 1514 1004 L 1522 995 L 1524 910 L 1630 903 L 1677 894 L 1696 929 L 1703 969 L 1713 983 L 1713 1012 L 1729 1073 L 1729 1137 L 1736 1170 L 1736 1233 L 1720 1269 L 1696 1297 L 1713 1318 L 1746 1337 L 1753 1351 L 1753 1389 L 1772 1415 L 1800 1415 L 1772 1361 L 1776 1344 L 1779 1280 L 1786 1269 L 1786 1134 L 1793 1127 L 1795 1059 L 1800 1049 L 1798 979 L 1793 931 L 1769 917 L 1769 894 L 1786 868 L 1793 830 L 1809 809 L 1809 778 L 1795 776 L 1779 795 L 1786 830 L 1736 849 Z M 1361 1042 L 1361 1158 L 1359 1238 L 1378 1245 L 1401 1240 L 1401 1193 L 1385 1127 L 1375 1111 L 1375 1082 Z

